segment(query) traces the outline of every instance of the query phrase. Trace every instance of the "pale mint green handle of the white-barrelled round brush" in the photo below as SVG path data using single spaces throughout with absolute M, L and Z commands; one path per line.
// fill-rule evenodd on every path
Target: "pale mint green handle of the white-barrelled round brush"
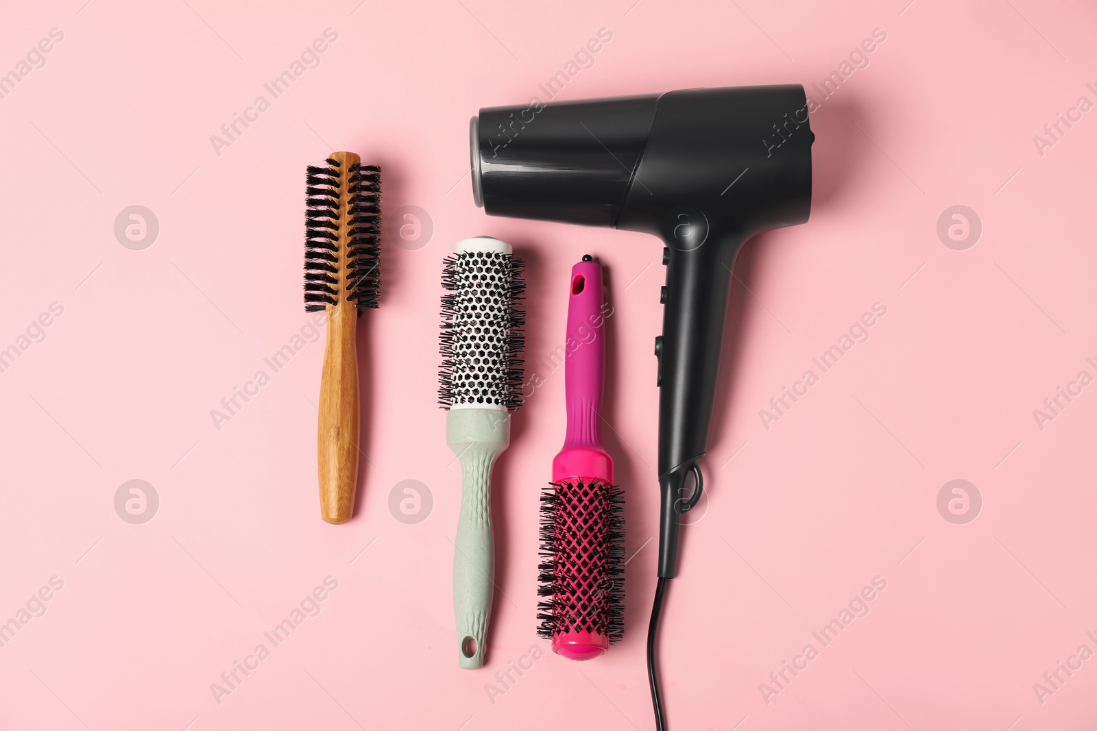
M 484 666 L 495 587 L 491 468 L 510 444 L 510 414 L 453 407 L 445 414 L 445 443 L 461 460 L 461 517 L 453 551 L 457 659 L 461 667 L 475 670 Z

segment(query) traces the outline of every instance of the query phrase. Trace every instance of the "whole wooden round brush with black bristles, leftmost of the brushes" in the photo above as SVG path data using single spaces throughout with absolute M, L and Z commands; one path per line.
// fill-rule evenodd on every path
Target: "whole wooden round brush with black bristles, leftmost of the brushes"
M 317 457 L 320 517 L 346 523 L 358 488 L 358 316 L 377 306 L 381 168 L 353 152 L 309 167 L 305 203 L 305 310 L 327 311 Z

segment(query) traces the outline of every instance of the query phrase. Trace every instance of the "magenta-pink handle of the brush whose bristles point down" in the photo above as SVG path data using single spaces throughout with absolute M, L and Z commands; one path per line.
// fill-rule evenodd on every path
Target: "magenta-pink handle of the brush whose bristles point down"
M 606 315 L 602 267 L 581 261 L 572 267 L 567 306 L 564 389 L 567 434 L 553 460 L 553 480 L 573 477 L 613 482 L 613 460 L 602 448 L 602 380 L 606 374 Z

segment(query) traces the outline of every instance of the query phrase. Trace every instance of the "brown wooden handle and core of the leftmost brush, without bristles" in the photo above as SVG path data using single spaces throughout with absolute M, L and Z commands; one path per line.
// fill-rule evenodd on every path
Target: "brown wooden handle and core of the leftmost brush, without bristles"
M 320 517 L 328 523 L 346 523 L 354 512 L 358 488 L 360 402 L 358 349 L 354 333 L 358 308 L 347 299 L 350 267 L 348 169 L 359 162 L 353 152 L 332 152 L 339 161 L 339 284 L 336 304 L 328 305 L 328 341 L 320 374 L 320 414 L 317 457 L 320 481 Z

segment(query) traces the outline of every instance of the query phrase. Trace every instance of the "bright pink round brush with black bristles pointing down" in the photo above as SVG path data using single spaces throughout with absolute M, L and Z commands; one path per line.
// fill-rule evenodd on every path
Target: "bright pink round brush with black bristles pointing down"
M 572 267 L 564 384 L 567 434 L 541 498 L 539 635 L 570 660 L 590 660 L 621 638 L 624 519 L 613 459 L 601 442 L 606 368 L 602 267 Z

